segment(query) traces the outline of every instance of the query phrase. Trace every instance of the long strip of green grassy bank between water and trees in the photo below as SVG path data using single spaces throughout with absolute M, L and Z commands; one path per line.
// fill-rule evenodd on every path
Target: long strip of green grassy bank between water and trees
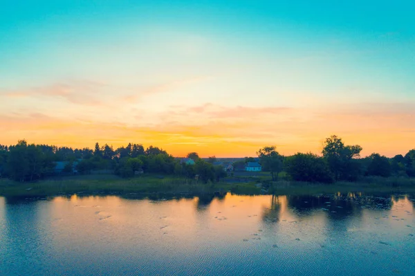
M 264 185 L 265 186 L 265 185 Z M 415 179 L 365 178 L 356 183 L 331 185 L 277 181 L 261 187 L 257 181 L 245 183 L 196 183 L 171 176 L 142 176 L 123 179 L 116 176 L 79 176 L 57 178 L 35 183 L 0 180 L 0 196 L 57 196 L 62 194 L 333 194 L 337 192 L 394 193 L 415 192 Z

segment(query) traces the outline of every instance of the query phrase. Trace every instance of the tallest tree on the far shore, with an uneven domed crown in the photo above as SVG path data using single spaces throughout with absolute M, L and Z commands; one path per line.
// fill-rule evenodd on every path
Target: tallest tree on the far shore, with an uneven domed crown
M 345 146 L 338 136 L 333 135 L 326 138 L 322 154 L 329 163 L 335 181 L 352 180 L 357 177 L 359 167 L 353 158 L 360 156 L 360 151 L 362 151 L 362 147 L 359 145 Z

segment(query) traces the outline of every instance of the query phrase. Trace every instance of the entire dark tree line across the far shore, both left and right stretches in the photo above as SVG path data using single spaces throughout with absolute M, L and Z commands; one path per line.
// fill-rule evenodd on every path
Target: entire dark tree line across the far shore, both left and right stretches
M 263 171 L 270 172 L 272 181 L 278 181 L 279 173 L 284 171 L 293 181 L 333 183 L 335 181 L 357 181 L 362 176 L 415 176 L 415 149 L 394 158 L 380 154 L 360 157 L 362 147 L 344 145 L 338 136 L 324 141 L 322 154 L 297 153 L 282 156 L 275 147 L 267 146 L 257 151 Z M 17 145 L 0 145 L 0 176 L 15 181 L 35 181 L 53 175 L 56 162 L 64 161 L 63 172 L 71 173 L 75 168 L 80 174 L 91 174 L 97 170 L 109 170 L 124 178 L 136 174 L 170 174 L 215 182 L 226 176 L 223 167 L 214 165 L 216 158 L 211 156 L 202 160 L 196 152 L 187 154 L 193 164 L 181 162 L 167 151 L 141 144 L 129 143 L 126 147 L 113 149 L 111 145 L 94 149 L 55 147 L 53 145 L 28 144 L 19 140 Z M 253 162 L 255 158 L 246 157 L 234 163 Z

